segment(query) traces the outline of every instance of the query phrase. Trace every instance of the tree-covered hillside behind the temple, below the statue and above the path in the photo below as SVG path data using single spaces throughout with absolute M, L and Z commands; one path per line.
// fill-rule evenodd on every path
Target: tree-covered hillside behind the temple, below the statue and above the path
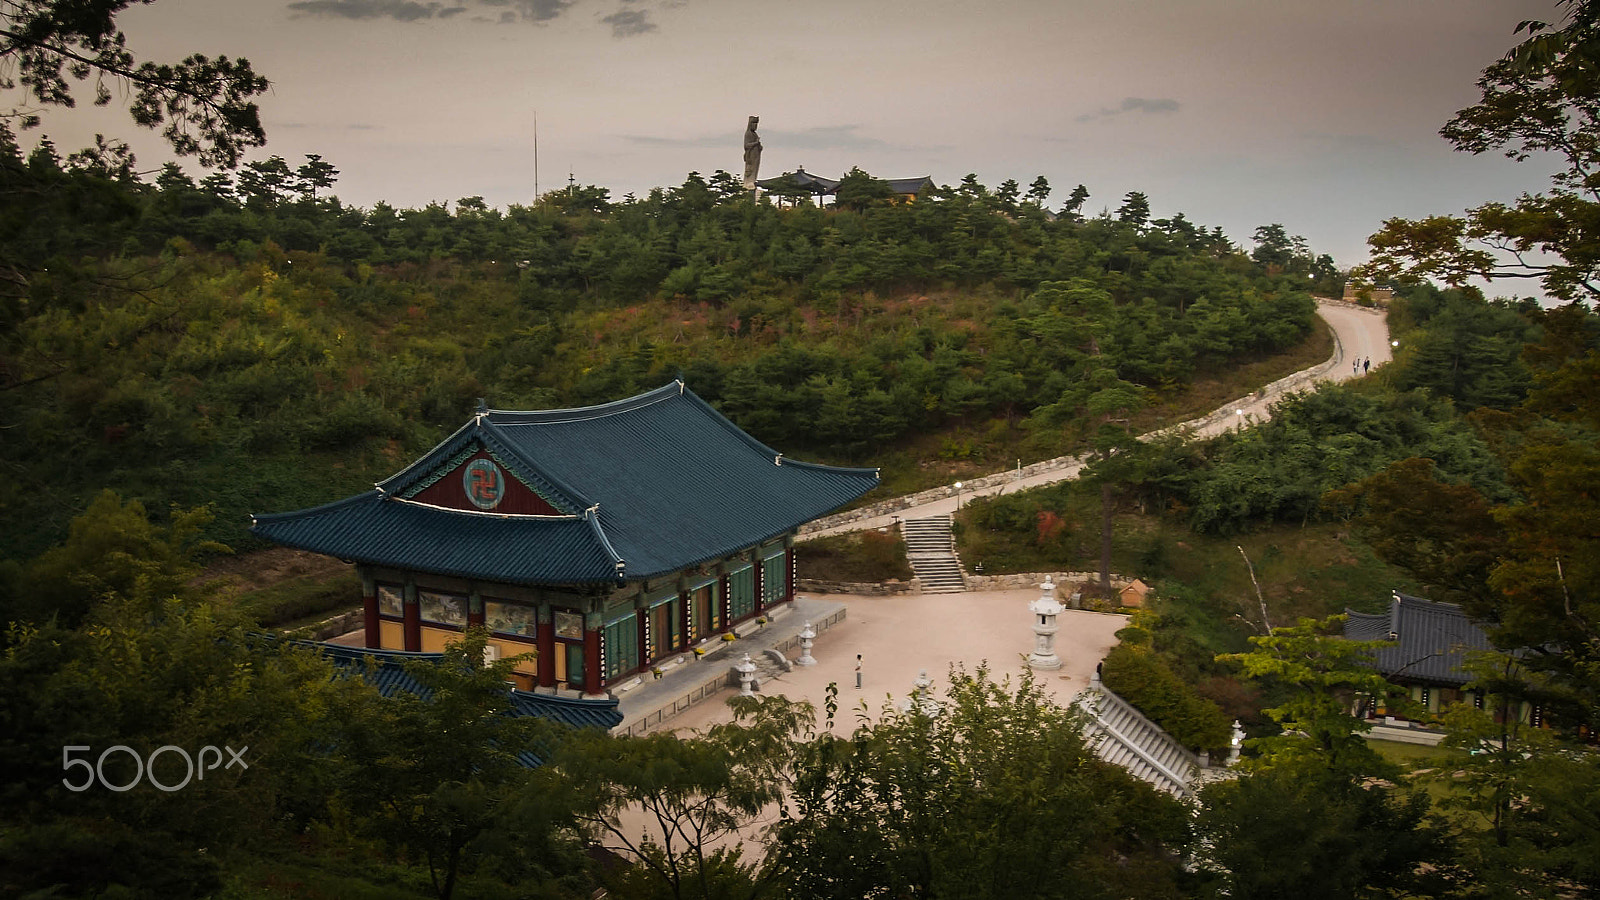
M 984 426 L 1000 456 L 1046 458 L 1106 397 L 1298 344 L 1333 275 L 1282 227 L 1246 255 L 1141 195 L 1082 219 L 974 179 L 778 208 L 690 175 L 507 211 L 355 210 L 333 179 L 274 157 L 144 183 L 0 141 L 6 556 L 102 487 L 211 504 L 210 536 L 238 543 L 246 512 L 358 490 L 480 397 L 586 405 L 680 376 L 792 455 L 870 463 Z

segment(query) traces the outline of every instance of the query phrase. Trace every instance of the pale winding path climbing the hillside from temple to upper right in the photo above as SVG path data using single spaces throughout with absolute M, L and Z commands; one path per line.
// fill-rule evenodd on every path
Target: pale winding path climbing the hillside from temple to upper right
M 1312 368 L 1290 375 L 1288 378 L 1280 378 L 1267 388 L 1250 394 L 1248 397 L 1240 397 L 1238 400 L 1222 404 L 1216 412 L 1173 426 L 1174 429 L 1189 429 L 1195 437 L 1210 437 L 1221 434 L 1230 428 L 1238 428 L 1240 424 L 1248 424 L 1251 421 L 1266 421 L 1270 418 L 1272 404 L 1283 399 L 1285 394 L 1291 391 L 1301 391 L 1317 381 L 1347 381 L 1350 378 L 1365 375 L 1366 370 L 1352 365 L 1355 360 L 1371 359 L 1373 365 L 1382 365 L 1392 359 L 1389 352 L 1389 323 L 1386 312 L 1382 309 L 1366 309 L 1362 306 L 1352 306 L 1338 299 L 1318 299 L 1317 315 L 1322 315 L 1323 322 L 1333 328 L 1333 356 L 1328 362 L 1314 365 Z M 1163 429 L 1165 431 L 1165 429 Z M 1150 437 L 1150 436 L 1146 436 Z M 1008 479 L 1000 487 L 981 488 L 976 492 L 968 492 L 963 496 L 944 496 L 938 500 L 928 500 L 926 503 L 917 503 L 914 506 L 906 506 L 894 509 L 893 512 L 885 512 L 882 516 L 872 516 L 867 519 L 854 519 L 850 522 L 826 525 L 814 532 L 802 533 L 798 540 L 806 540 L 819 535 L 837 535 L 843 532 L 862 532 L 866 528 L 885 528 L 894 525 L 899 519 L 920 519 L 925 516 L 947 516 L 955 511 L 957 503 L 971 500 L 978 496 L 997 496 L 1000 493 L 1016 493 L 1018 490 L 1026 490 L 1030 487 L 1042 487 L 1046 484 L 1056 484 L 1067 479 L 1078 477 L 1083 471 L 1083 461 L 1080 458 L 1062 458 L 1062 468 L 1056 468 L 1046 472 L 1038 472 L 1034 476 L 1024 476 L 1019 479 Z M 824 520 L 826 522 L 826 520 Z

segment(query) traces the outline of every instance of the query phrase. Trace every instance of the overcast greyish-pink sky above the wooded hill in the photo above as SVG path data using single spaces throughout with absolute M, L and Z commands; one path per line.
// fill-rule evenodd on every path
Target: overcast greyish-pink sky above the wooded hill
M 1282 223 L 1341 266 L 1387 216 L 1539 191 L 1538 162 L 1453 152 L 1438 127 L 1554 0 L 158 0 L 141 59 L 248 58 L 269 144 L 322 154 L 349 203 L 491 205 L 579 183 L 613 197 L 738 173 L 966 173 L 1090 211 L 1128 191 L 1246 243 Z M 62 152 L 107 130 L 51 115 Z M 24 141 L 27 136 L 24 136 Z

